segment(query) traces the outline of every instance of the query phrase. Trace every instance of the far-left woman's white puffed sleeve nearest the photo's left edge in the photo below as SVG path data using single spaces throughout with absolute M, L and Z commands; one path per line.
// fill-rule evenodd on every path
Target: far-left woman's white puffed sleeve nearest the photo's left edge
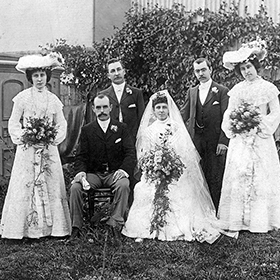
M 20 118 L 23 114 L 23 104 L 18 98 L 13 99 L 14 105 L 12 109 L 12 114 L 8 122 L 8 131 L 14 144 L 23 144 L 21 141 L 21 136 L 23 134 L 22 125 Z

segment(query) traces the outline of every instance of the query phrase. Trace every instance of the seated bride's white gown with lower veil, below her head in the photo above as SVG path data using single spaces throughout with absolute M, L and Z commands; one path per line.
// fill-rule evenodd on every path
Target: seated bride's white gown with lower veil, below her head
M 197 239 L 213 243 L 220 235 L 211 225 L 215 220 L 215 208 L 199 165 L 198 153 L 187 132 L 182 133 L 176 123 L 169 119 L 163 122 L 156 120 L 143 133 L 145 139 L 142 143 L 145 147 L 142 150 L 149 151 L 155 143 L 159 143 L 160 134 L 165 132 L 168 124 L 171 124 L 173 132 L 170 142 L 181 156 L 186 169 L 179 181 L 169 185 L 167 196 L 171 211 L 167 212 L 166 225 L 158 236 L 155 231 L 150 233 L 155 185 L 148 183 L 142 175 L 141 181 L 135 186 L 134 201 L 122 233 L 132 238 L 157 237 L 166 241 Z M 186 134 L 186 138 L 182 137 Z

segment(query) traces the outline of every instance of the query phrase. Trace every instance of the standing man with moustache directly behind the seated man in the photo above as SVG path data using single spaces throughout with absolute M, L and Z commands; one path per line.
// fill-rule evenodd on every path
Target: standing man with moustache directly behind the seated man
M 108 78 L 112 85 L 100 92 L 110 97 L 111 118 L 127 124 L 132 139 L 136 141 L 137 130 L 145 109 L 143 93 L 125 82 L 125 69 L 120 60 L 108 61 Z

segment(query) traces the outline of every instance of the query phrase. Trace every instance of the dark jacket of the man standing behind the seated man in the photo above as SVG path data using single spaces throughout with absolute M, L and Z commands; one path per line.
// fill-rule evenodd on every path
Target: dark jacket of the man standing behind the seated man
M 121 109 L 122 121 L 127 124 L 132 140 L 136 141 L 137 130 L 145 109 L 142 91 L 125 84 L 120 102 L 117 99 L 112 85 L 99 94 L 109 96 L 111 104 L 113 105 L 111 111 L 112 120 L 119 121 L 119 112 Z

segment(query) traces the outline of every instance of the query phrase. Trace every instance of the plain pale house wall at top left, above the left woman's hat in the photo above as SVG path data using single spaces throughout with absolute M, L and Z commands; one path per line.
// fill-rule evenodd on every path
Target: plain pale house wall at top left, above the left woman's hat
M 1 0 L 0 53 L 38 51 L 66 39 L 90 47 L 121 27 L 130 0 Z

